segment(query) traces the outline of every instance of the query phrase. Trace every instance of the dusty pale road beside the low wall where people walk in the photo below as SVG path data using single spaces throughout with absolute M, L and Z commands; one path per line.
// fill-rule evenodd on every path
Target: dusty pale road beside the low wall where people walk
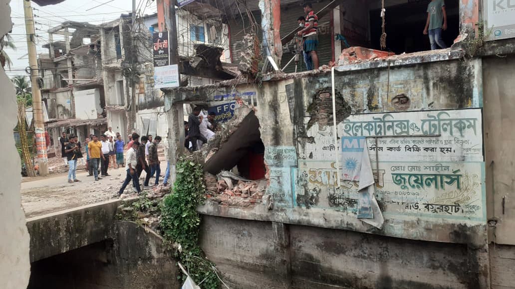
M 166 162 L 161 161 L 161 175 L 166 170 Z M 82 182 L 70 184 L 67 182 L 67 173 L 52 175 L 46 178 L 22 183 L 22 203 L 27 218 L 71 209 L 88 204 L 107 201 L 113 198 L 125 179 L 124 168 L 110 169 L 111 176 L 105 177 L 98 182 L 92 176 L 86 176 L 85 170 L 77 171 L 77 179 Z M 141 174 L 145 177 L 145 172 Z M 151 184 L 155 182 L 150 179 Z M 162 179 L 160 179 L 162 183 Z M 143 184 L 143 180 L 140 182 Z M 127 186 L 126 192 L 132 190 L 132 186 Z

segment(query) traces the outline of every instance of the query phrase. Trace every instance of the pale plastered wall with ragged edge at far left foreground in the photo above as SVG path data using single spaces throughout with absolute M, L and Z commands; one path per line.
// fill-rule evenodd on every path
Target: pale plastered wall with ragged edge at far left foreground
M 0 0 L 0 36 L 12 28 L 9 0 Z M 12 135 L 16 126 L 16 94 L 11 80 L 0 67 L 0 97 L 3 135 Z M 30 276 L 29 234 L 25 226 L 25 212 L 20 195 L 21 163 L 14 138 L 2 141 L 3 166 L 0 168 L 0 281 L 5 288 L 25 288 Z

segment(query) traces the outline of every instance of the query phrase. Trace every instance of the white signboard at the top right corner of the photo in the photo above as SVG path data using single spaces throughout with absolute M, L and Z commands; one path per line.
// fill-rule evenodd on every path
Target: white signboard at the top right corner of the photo
M 515 1 L 483 0 L 485 40 L 515 37 Z

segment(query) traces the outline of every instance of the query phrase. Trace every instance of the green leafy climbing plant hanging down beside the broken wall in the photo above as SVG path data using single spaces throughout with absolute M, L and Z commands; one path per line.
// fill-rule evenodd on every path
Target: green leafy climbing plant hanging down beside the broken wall
M 218 288 L 220 281 L 214 264 L 205 258 L 199 245 L 200 215 L 196 208 L 205 200 L 202 166 L 191 160 L 177 163 L 173 192 L 163 199 L 161 223 L 163 237 L 180 245 L 176 257 L 202 288 Z M 182 280 L 186 276 L 181 276 Z

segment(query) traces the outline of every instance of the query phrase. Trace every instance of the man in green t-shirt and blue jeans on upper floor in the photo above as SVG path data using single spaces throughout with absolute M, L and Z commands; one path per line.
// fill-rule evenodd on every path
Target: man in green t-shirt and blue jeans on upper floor
M 447 48 L 442 39 L 442 30 L 447 30 L 447 12 L 443 0 L 431 0 L 427 5 L 427 21 L 424 34 L 429 34 L 431 50 Z

